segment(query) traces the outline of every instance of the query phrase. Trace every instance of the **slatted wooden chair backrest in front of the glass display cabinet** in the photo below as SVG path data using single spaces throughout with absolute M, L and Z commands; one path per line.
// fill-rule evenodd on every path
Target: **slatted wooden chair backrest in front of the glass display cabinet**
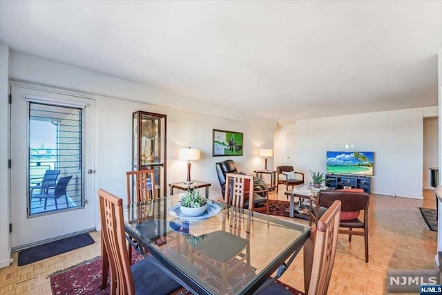
M 126 172 L 127 202 L 142 202 L 155 199 L 155 170 Z

